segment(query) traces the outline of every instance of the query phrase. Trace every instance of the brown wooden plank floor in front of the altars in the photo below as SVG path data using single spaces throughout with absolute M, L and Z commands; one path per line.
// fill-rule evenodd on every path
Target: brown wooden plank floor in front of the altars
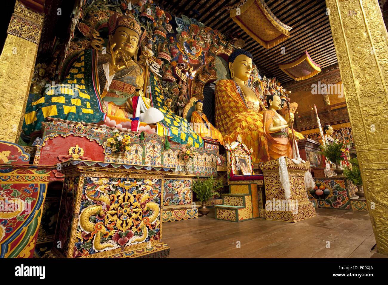
M 334 209 L 297 223 L 219 221 L 212 209 L 207 218 L 163 223 L 163 241 L 170 257 L 383 257 L 371 250 L 369 214 Z

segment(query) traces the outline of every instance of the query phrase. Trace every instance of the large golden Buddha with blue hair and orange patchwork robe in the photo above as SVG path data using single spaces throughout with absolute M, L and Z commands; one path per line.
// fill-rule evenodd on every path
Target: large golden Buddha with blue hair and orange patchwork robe
M 215 89 L 216 127 L 227 143 L 234 142 L 240 134 L 248 149 L 253 149 L 254 163 L 268 161 L 262 115 L 266 109 L 256 93 L 245 84 L 252 70 L 252 55 L 238 49 L 228 61 L 231 79 L 219 80 Z M 303 138 L 300 133 L 294 133 Z

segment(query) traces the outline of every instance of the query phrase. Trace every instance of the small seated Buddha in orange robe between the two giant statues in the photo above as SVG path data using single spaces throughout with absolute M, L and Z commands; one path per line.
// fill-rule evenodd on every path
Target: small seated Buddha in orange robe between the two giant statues
M 218 140 L 223 145 L 223 138 L 220 133 L 209 121 L 206 115 L 202 112 L 203 102 L 198 100 L 195 103 L 195 111 L 191 114 L 191 123 L 193 124 L 194 132 L 203 138 L 212 138 Z

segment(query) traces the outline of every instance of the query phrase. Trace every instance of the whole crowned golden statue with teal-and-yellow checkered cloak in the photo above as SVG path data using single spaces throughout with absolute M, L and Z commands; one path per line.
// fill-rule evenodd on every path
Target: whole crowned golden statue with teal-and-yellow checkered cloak
M 105 122 L 135 131 L 141 124 L 156 124 L 158 135 L 167 135 L 177 143 L 203 145 L 202 138 L 187 126 L 187 121 L 166 106 L 158 75 L 137 62 L 145 34 L 132 16 L 113 13 L 106 24 L 100 25 L 107 25 L 107 47 L 81 50 L 71 59 L 61 84 L 47 88 L 42 98 L 26 106 L 25 135 L 40 131 L 42 122 L 53 117 Z M 142 56 L 147 57 L 146 54 L 146 50 L 142 51 Z

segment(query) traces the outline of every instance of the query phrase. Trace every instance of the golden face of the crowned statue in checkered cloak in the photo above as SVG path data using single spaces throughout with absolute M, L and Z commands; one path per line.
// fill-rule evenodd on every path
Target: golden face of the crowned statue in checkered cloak
M 126 55 L 133 57 L 139 44 L 139 35 L 130 28 L 120 26 L 113 36 L 109 36 L 109 40 L 110 44 L 116 43 L 113 50 L 121 48 Z

